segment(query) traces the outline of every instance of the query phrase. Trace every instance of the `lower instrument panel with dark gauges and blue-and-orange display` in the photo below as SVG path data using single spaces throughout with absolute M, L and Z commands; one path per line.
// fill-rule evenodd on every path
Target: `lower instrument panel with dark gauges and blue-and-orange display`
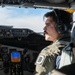
M 1 75 L 32 75 L 37 51 L 0 44 Z

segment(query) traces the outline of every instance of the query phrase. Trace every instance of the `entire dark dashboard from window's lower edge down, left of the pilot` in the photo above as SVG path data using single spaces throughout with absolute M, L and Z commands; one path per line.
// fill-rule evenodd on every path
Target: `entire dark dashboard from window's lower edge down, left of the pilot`
M 48 44 L 50 42 L 45 41 L 43 35 L 30 29 L 0 26 L 0 73 L 2 75 L 33 73 L 39 52 Z

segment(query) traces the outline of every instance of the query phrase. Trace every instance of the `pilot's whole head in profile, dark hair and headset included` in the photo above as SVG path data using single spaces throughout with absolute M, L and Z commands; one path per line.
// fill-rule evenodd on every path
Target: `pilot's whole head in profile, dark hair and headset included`
M 72 16 L 69 12 L 55 9 L 44 15 L 45 40 L 55 41 L 62 34 L 71 30 Z

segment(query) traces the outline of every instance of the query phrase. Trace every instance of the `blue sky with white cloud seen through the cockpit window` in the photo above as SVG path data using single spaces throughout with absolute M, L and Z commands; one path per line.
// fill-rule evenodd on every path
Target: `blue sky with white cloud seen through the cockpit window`
M 0 7 L 0 25 L 29 28 L 35 32 L 42 32 L 43 15 L 48 11 L 50 10 L 39 8 Z

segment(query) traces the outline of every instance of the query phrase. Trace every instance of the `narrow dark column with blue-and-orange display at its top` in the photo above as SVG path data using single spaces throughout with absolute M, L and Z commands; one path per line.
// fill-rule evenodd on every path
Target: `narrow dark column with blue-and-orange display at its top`
M 10 73 L 11 75 L 23 75 L 23 62 L 21 51 L 10 51 Z

